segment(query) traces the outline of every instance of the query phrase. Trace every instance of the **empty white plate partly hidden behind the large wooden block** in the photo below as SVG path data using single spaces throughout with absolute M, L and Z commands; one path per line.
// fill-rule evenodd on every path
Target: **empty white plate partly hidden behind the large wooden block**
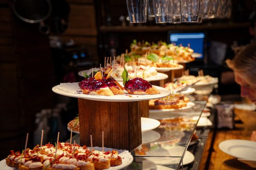
M 152 129 L 157 128 L 160 125 L 160 122 L 156 119 L 151 119 L 151 118 L 146 118 L 146 117 L 142 117 L 141 119 L 141 132 L 146 132 L 148 130 L 153 131 Z M 67 130 L 71 131 L 70 127 L 67 127 Z M 80 133 L 79 131 L 74 131 L 72 130 L 73 133 Z M 158 137 L 158 132 L 153 131 L 154 133 L 154 138 L 157 136 Z M 158 133 L 158 134 L 156 134 Z M 159 134 L 160 135 L 160 134 Z M 151 136 L 153 137 L 153 136 Z M 157 139 L 154 139 L 157 140 Z

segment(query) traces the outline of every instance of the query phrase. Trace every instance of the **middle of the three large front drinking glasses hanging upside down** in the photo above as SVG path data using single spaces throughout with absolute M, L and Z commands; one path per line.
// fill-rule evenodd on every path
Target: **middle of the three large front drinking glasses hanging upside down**
M 172 22 L 172 0 L 153 0 L 156 23 Z

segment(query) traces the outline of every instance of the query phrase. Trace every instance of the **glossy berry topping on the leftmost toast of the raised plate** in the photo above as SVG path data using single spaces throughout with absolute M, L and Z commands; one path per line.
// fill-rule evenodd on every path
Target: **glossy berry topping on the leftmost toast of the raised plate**
M 94 77 L 84 79 L 83 81 L 79 82 L 78 85 L 81 89 L 88 89 L 90 91 L 97 91 L 100 88 L 108 87 L 105 82 L 102 80 L 96 80 Z

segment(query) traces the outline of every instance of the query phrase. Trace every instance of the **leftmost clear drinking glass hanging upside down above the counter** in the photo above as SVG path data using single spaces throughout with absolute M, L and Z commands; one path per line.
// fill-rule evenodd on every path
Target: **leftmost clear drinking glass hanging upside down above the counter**
M 130 23 L 147 21 L 147 0 L 126 0 Z

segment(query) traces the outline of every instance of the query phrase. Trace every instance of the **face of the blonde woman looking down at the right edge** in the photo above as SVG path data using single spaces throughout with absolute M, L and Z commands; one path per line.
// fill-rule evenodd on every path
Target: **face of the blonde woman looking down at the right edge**
M 256 104 L 256 88 L 255 85 L 248 82 L 248 80 L 239 72 L 235 72 L 235 80 L 241 86 L 241 96 L 247 97 L 250 101 Z

